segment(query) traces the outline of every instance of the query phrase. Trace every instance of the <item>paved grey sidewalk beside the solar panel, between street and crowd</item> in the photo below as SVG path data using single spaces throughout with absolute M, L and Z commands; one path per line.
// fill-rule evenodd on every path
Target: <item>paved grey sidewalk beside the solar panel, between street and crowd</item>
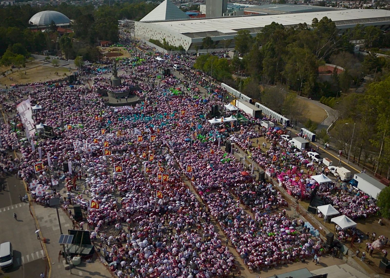
M 74 275 L 81 277 L 112 277 L 105 265 L 100 262 L 96 253 L 93 256 L 91 263 L 86 263 L 85 260 L 82 260 L 82 263 L 72 267 L 71 271 L 69 271 L 68 267 L 65 269 L 67 266 L 65 264 L 65 259 L 59 255 L 59 253 L 62 252 L 62 246 L 58 244 L 60 227 L 58 226 L 56 209 L 44 207 L 35 203 L 33 206 L 39 222 L 39 229 L 41 229 L 42 236 L 46 238 L 46 244 L 43 244 L 47 249 L 51 267 L 47 275 L 48 278 L 73 277 Z M 58 213 L 60 216 L 62 233 L 68 234 L 67 230 L 73 228 L 72 221 L 63 212 L 62 208 L 58 209 Z

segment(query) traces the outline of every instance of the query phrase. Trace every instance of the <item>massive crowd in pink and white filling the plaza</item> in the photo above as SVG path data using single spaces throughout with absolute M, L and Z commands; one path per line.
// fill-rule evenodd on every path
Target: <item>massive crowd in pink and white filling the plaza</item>
M 260 128 L 261 119 L 243 112 L 249 120 L 243 125 L 209 124 L 211 107 L 223 107 L 226 102 L 218 94 L 195 90 L 206 79 L 190 70 L 191 58 L 144 58 L 138 66 L 119 63 L 118 69 L 124 71 L 119 75 L 121 88 L 113 88 L 103 76 L 110 71 L 105 66 L 104 71 L 92 71 L 97 74 L 92 88 L 38 87 L 2 95 L 0 101 L 9 117 L 0 126 L 4 150 L 0 170 L 4 174 L 17 170 L 37 203 L 46 204 L 58 195 L 58 180 L 68 189 L 62 196 L 64 209 L 73 203 L 84 208 L 90 200 L 98 203 L 99 209 L 90 209 L 86 223 L 79 225 L 101 240 L 101 251 L 119 277 L 203 278 L 231 273 L 234 256 L 223 246 L 211 216 L 252 271 L 320 252 L 313 231 L 302 229 L 286 215 L 287 202 L 273 185 L 243 174 L 243 164 L 233 152 L 218 147 L 218 138 L 232 140 L 288 192 L 303 198 L 315 187 L 310 176 L 319 171 L 307 166 L 311 161 L 305 152 L 291 147 L 280 132 Z M 161 70 L 173 64 L 184 67 L 180 78 L 164 77 Z M 98 93 L 134 86 L 141 88 L 135 94 L 144 101 L 121 112 L 106 106 Z M 172 88 L 186 93 L 174 95 Z M 26 97 L 31 105 L 42 106 L 33 112 L 34 122 L 53 127 L 53 138 L 43 137 L 39 130 L 30 140 L 23 138 L 20 118 L 12 113 Z M 226 117 L 232 114 L 224 113 Z M 223 127 L 227 131 L 220 131 Z M 252 146 L 250 139 L 261 136 L 268 141 L 266 149 Z M 8 155 L 11 150 L 21 153 L 20 160 Z M 39 161 L 45 169 L 35 173 L 34 164 Z M 72 173 L 61 171 L 68 161 Z M 310 170 L 305 173 L 304 168 Z M 113 174 L 113 169 L 122 171 Z M 84 186 L 77 185 L 77 180 Z M 330 198 L 334 204 L 351 198 L 355 205 L 346 214 L 352 216 L 377 211 L 374 203 L 365 209 L 362 193 Z M 115 227 L 116 235 L 107 232 L 109 227 Z

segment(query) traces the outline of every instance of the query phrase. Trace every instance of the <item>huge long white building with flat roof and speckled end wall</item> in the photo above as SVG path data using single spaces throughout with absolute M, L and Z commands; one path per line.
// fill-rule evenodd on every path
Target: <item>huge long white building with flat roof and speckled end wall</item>
M 381 9 L 336 9 L 312 13 L 269 14 L 264 16 L 239 16 L 207 19 L 189 19 L 174 21 L 135 22 L 135 33 L 139 38 L 165 40 L 170 45 L 182 45 L 184 49 L 194 49 L 195 45 L 202 45 L 202 39 L 209 36 L 217 47 L 223 48 L 226 39 L 233 39 L 230 47 L 234 46 L 234 36 L 239 30 L 249 30 L 256 36 L 265 25 L 272 22 L 286 27 L 299 23 L 310 26 L 313 18 L 319 20 L 327 16 L 335 22 L 340 33 L 356 24 L 363 26 L 374 25 L 382 30 L 389 29 L 390 11 Z M 202 47 L 199 47 L 201 49 Z

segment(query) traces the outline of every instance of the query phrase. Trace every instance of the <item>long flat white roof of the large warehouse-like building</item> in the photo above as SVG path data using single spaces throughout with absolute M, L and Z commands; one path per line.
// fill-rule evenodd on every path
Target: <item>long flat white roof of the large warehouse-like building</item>
M 313 13 L 289 13 L 289 14 L 271 14 L 264 16 L 240 16 L 240 17 L 221 17 L 210 19 L 195 19 L 195 20 L 177 20 L 164 22 L 148 22 L 157 24 L 161 27 L 175 32 L 197 33 L 220 31 L 223 33 L 235 33 L 237 29 L 249 29 L 255 27 L 264 27 L 272 22 L 277 22 L 282 25 L 296 25 L 299 23 L 311 24 L 313 18 L 320 20 L 327 16 L 332 21 L 358 20 L 365 18 L 381 18 L 387 16 L 386 10 L 381 9 L 347 9 L 337 11 L 324 11 Z M 389 11 L 390 16 L 390 11 Z M 156 19 L 155 19 L 156 20 Z

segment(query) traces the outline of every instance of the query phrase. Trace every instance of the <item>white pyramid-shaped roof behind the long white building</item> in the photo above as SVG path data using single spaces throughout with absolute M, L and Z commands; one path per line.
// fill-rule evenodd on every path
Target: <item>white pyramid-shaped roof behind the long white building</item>
M 169 0 L 165 0 L 160 5 L 155 7 L 150 13 L 145 15 L 140 21 L 156 21 L 156 20 L 180 20 L 190 18 L 186 13 L 179 9 Z

